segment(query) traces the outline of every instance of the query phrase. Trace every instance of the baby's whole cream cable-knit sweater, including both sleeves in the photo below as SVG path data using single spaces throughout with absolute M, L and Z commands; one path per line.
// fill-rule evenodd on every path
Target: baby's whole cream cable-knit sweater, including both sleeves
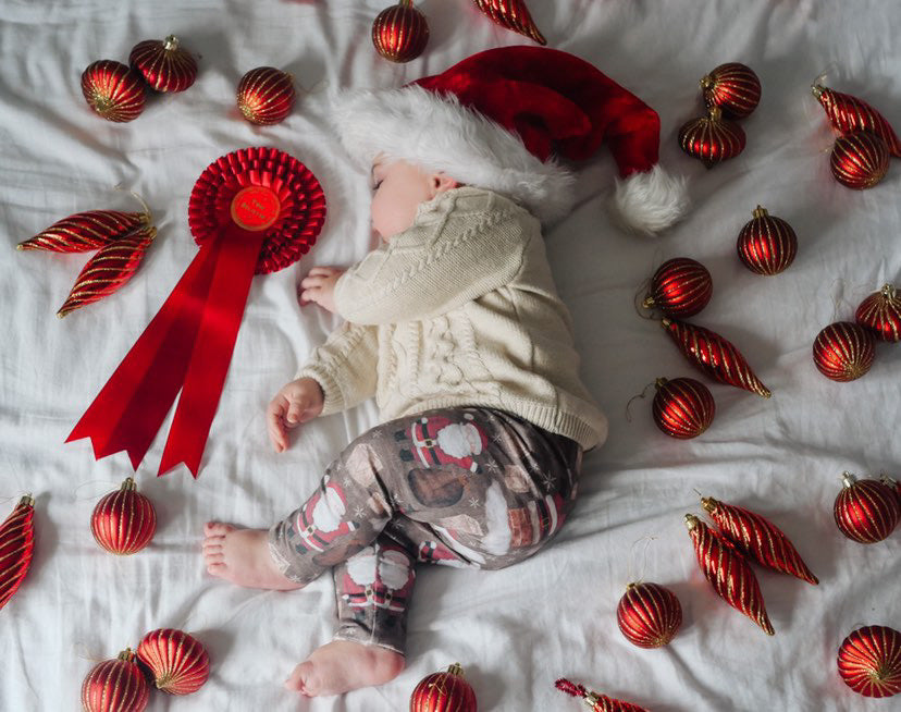
M 539 222 L 495 193 L 455 188 L 419 206 L 411 228 L 342 275 L 335 307 L 345 323 L 297 375 L 322 386 L 323 415 L 375 395 L 383 420 L 484 406 L 585 450 L 606 439 Z

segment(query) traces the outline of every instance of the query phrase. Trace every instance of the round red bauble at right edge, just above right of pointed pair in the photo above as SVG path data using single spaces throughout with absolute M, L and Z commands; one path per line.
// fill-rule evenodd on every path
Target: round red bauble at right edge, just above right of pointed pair
M 841 492 L 832 514 L 841 533 L 862 544 L 886 539 L 901 518 L 898 493 L 878 480 L 859 480 L 842 472 Z

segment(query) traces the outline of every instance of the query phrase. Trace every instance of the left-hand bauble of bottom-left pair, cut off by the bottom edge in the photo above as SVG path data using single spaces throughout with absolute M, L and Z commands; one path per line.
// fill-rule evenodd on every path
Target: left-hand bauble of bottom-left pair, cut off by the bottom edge
M 149 698 L 150 687 L 131 648 L 95 665 L 82 683 L 84 712 L 143 712 Z

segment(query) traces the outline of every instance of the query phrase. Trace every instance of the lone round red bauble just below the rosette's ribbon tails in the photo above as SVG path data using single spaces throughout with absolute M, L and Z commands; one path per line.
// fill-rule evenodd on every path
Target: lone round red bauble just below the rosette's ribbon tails
M 157 512 L 150 500 L 135 489 L 127 477 L 122 487 L 103 496 L 90 515 L 94 539 L 113 554 L 140 551 L 157 531 Z

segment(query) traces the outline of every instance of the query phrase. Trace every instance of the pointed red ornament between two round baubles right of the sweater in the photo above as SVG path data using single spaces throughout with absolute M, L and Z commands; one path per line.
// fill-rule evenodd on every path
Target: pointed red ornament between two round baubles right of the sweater
M 698 369 L 711 378 L 768 398 L 772 393 L 728 339 L 704 327 L 664 318 L 661 326 Z

